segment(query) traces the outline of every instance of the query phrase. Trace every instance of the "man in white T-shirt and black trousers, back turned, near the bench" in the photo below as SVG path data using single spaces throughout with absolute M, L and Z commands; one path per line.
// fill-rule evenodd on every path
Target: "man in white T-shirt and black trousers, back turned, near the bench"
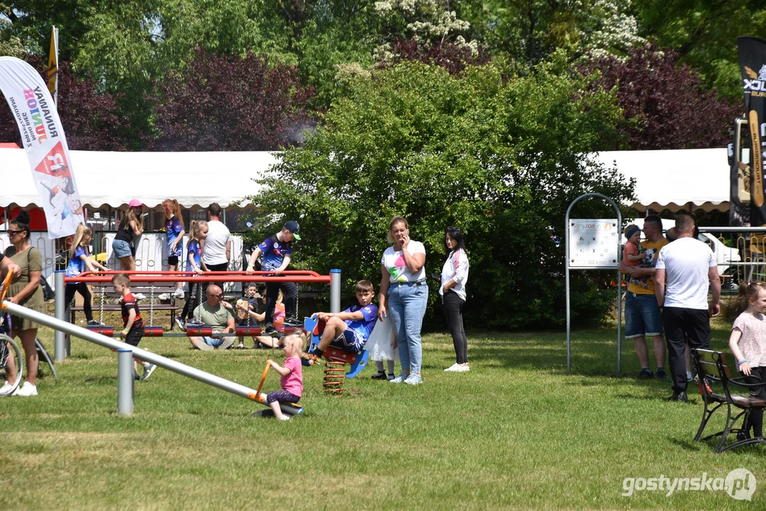
M 663 310 L 673 395 L 668 401 L 689 402 L 686 396 L 686 337 L 690 348 L 709 349 L 710 317 L 721 312 L 721 280 L 715 255 L 693 237 L 694 220 L 676 218 L 678 239 L 660 250 L 654 293 Z M 708 303 L 708 287 L 712 300 Z

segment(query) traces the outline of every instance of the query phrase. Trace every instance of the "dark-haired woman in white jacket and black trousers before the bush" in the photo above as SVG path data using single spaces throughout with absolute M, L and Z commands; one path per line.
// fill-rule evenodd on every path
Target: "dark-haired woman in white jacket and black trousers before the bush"
M 441 269 L 439 294 L 444 303 L 444 317 L 450 327 L 455 345 L 457 362 L 444 369 L 446 372 L 466 372 L 468 366 L 468 340 L 463 329 L 463 306 L 466 304 L 466 282 L 468 281 L 468 254 L 463 244 L 460 228 L 448 227 L 444 232 L 444 250 L 447 260 Z

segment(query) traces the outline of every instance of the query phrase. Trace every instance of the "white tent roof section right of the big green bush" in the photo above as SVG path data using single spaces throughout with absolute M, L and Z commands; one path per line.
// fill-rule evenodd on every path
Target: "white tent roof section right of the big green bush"
M 607 168 L 617 165 L 636 178 L 638 211 L 693 209 L 728 211 L 729 167 L 726 149 L 607 151 L 596 155 Z

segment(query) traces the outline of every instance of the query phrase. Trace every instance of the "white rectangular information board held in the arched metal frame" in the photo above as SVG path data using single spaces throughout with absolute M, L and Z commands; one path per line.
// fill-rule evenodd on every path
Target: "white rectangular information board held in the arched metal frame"
M 617 218 L 569 221 L 569 267 L 617 268 L 620 226 Z

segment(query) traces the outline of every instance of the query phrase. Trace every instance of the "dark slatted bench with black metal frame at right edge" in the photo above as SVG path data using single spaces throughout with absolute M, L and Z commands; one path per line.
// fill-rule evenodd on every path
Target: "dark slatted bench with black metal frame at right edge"
M 766 444 L 764 437 L 755 437 L 725 445 L 728 434 L 738 434 L 745 431 L 744 427 L 735 427 L 740 418 L 743 419 L 743 425 L 747 424 L 751 411 L 756 408 L 766 408 L 766 401 L 763 399 L 754 398 L 750 395 L 732 394 L 731 386 L 749 389 L 762 384 L 748 384 L 743 381 L 744 378 L 732 378 L 728 365 L 726 365 L 726 357 L 722 352 L 715 352 L 709 349 L 692 349 L 691 352 L 697 377 L 699 378 L 699 392 L 702 394 L 702 401 L 705 403 L 705 408 L 702 411 L 702 423 L 699 424 L 699 430 L 694 440 L 702 442 L 720 436 L 721 440 L 713 449 L 715 453 L 722 453 L 725 450 L 748 444 Z M 719 383 L 723 392 L 713 391 L 708 382 L 713 382 L 714 385 L 716 382 Z M 712 414 L 722 407 L 726 410 L 726 422 L 723 431 L 702 437 L 702 432 L 705 431 L 705 427 L 708 425 Z

